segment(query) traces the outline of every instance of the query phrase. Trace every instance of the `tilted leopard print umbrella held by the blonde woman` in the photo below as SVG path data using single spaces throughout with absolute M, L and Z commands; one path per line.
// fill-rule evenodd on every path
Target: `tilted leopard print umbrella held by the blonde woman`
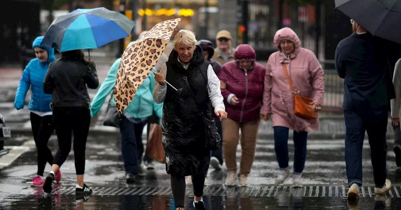
M 124 50 L 113 90 L 118 115 L 132 102 L 136 91 L 162 55 L 181 18 L 156 24 Z

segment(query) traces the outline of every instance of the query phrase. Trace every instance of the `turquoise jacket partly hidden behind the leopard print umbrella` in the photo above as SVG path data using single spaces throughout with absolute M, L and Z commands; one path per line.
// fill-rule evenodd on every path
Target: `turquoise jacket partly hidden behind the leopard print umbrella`
M 99 112 L 103 102 L 106 100 L 107 96 L 111 94 L 111 91 L 113 91 L 120 61 L 121 58 L 115 60 L 110 68 L 109 74 L 107 74 L 107 77 L 101 84 L 95 98 L 93 98 L 91 102 L 92 116 L 95 116 L 97 112 Z M 142 83 L 137 90 L 134 100 L 132 100 L 124 112 L 130 114 L 134 118 L 146 118 L 152 116 L 154 110 L 156 115 L 161 118 L 163 104 L 156 104 L 152 96 L 155 83 L 156 80 L 154 79 L 154 74 L 150 73 L 148 78 L 146 78 L 144 83 Z M 115 105 L 114 98 L 111 102 Z

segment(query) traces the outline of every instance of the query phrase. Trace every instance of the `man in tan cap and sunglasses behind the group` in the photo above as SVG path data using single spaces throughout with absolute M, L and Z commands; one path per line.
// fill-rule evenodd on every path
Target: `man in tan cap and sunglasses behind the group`
M 232 47 L 233 38 L 227 30 L 219 31 L 216 35 L 217 48 L 212 59 L 224 65 L 234 60 L 235 48 Z

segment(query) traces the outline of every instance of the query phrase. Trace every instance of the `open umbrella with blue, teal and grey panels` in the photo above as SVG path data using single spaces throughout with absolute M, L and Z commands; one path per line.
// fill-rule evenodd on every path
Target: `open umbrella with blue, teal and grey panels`
M 41 45 L 59 52 L 96 49 L 130 36 L 135 22 L 106 8 L 78 9 L 57 17 L 50 25 Z

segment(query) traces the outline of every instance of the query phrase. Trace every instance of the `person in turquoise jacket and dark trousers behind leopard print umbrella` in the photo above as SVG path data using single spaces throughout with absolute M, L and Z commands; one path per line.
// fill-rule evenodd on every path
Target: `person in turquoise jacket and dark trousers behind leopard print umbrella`
M 131 42 L 129 46 L 132 43 L 133 42 Z M 103 81 L 96 96 L 93 98 L 90 108 L 91 116 L 95 116 L 99 112 L 104 100 L 114 89 L 120 62 L 121 58 L 115 60 L 106 76 L 106 79 Z M 146 78 L 140 88 L 138 88 L 132 103 L 124 110 L 119 123 L 121 153 L 124 162 L 124 169 L 126 171 L 126 182 L 128 184 L 134 184 L 136 182 L 136 176 L 143 174 L 141 160 L 142 154 L 144 153 L 144 145 L 142 143 L 142 132 L 144 126 L 152 116 L 153 112 L 156 113 L 158 118 L 162 117 L 163 104 L 156 104 L 152 97 L 155 83 L 154 74 L 149 74 L 148 78 Z M 112 100 L 111 103 L 115 106 L 114 100 Z M 145 159 L 145 157 L 144 161 L 149 161 L 148 159 L 152 160 L 149 157 L 148 159 Z

